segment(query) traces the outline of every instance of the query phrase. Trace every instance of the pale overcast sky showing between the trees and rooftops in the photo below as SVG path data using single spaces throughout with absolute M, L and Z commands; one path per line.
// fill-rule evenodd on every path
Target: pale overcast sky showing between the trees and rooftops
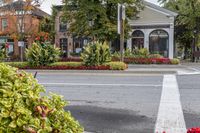
M 43 4 L 41 5 L 41 9 L 45 12 L 51 14 L 51 6 L 52 5 L 60 5 L 62 0 L 44 0 Z M 157 3 L 157 0 L 146 0 L 155 4 Z

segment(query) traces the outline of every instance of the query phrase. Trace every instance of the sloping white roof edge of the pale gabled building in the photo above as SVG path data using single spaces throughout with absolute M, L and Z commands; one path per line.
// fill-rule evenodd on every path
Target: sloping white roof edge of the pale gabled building
M 176 17 L 176 16 L 178 15 L 178 13 L 175 13 L 175 12 L 173 12 L 173 11 L 170 11 L 170 10 L 168 10 L 168 9 L 165 9 L 165 8 L 163 8 L 163 7 L 160 7 L 160 6 L 158 6 L 158 5 L 155 5 L 155 4 L 153 4 L 153 3 L 150 3 L 150 2 L 147 2 L 147 1 L 143 1 L 143 3 L 144 3 L 144 5 L 146 5 L 146 6 L 148 6 L 148 7 L 151 7 L 151 8 L 153 8 L 153 9 L 158 10 L 158 11 L 161 11 L 161 12 L 163 12 L 163 13 L 165 13 L 165 14 L 170 15 L 170 16 Z

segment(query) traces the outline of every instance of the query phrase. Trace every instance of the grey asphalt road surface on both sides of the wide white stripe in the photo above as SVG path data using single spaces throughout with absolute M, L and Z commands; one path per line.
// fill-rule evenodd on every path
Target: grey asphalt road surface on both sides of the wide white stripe
M 86 131 L 153 133 L 163 75 L 38 73 L 48 92 L 63 95 Z M 187 128 L 200 126 L 200 76 L 177 76 Z

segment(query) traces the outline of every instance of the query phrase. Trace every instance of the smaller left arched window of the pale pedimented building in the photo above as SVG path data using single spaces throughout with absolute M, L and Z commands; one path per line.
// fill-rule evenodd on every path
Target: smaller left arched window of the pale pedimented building
M 141 30 L 136 30 L 132 34 L 132 49 L 144 48 L 144 33 Z

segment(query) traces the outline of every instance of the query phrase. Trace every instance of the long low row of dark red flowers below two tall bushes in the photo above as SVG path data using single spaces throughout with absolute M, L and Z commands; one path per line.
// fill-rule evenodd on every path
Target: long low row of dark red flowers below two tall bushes
M 46 69 L 46 70 L 110 70 L 110 66 L 38 66 L 38 67 L 21 67 L 20 69 Z

